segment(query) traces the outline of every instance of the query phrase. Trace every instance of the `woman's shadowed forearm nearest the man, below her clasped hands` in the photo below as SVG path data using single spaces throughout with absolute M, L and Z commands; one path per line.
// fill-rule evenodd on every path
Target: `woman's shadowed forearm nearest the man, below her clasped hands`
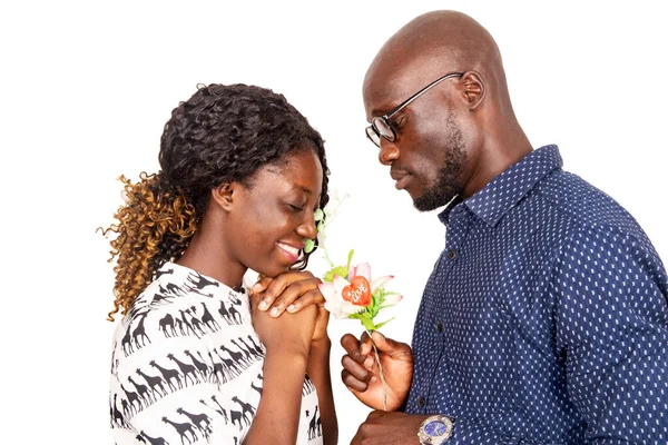
M 332 342 L 327 336 L 313 342 L 311 344 L 311 354 L 308 355 L 308 366 L 306 368 L 306 373 L 308 373 L 308 377 L 311 377 L 317 392 L 317 403 L 321 411 L 321 422 L 323 424 L 323 442 L 325 445 L 332 445 L 338 442 L 338 423 L 334 409 L 332 376 L 330 374 L 331 349 Z

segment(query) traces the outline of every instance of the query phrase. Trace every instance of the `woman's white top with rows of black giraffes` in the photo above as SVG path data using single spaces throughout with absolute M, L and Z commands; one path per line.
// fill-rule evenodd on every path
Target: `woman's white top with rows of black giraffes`
M 114 335 L 116 444 L 240 444 L 259 404 L 264 356 L 245 294 L 164 265 Z M 297 444 L 322 444 L 308 376 L 302 396 Z

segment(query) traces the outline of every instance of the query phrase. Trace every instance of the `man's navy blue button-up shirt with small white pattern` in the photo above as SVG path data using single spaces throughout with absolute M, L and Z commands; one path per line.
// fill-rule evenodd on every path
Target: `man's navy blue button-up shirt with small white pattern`
M 439 215 L 405 411 L 449 444 L 668 444 L 666 269 L 636 220 L 532 151 Z

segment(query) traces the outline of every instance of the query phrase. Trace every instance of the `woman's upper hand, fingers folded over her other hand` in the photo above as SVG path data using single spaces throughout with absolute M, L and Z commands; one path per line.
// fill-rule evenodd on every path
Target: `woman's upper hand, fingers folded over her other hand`
M 275 278 L 262 277 L 250 288 L 258 296 L 258 310 L 279 317 L 287 312 L 296 314 L 308 306 L 317 307 L 317 320 L 313 332 L 313 342 L 327 338 L 330 313 L 325 309 L 325 297 L 317 287 L 322 280 L 306 270 L 291 270 Z

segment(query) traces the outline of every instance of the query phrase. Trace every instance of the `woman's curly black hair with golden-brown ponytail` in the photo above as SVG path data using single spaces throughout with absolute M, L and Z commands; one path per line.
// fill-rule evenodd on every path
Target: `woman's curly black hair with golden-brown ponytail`
M 114 267 L 114 314 L 128 309 L 167 261 L 178 259 L 197 230 L 210 190 L 237 181 L 252 187 L 255 174 L 313 150 L 323 168 L 321 208 L 328 201 L 330 170 L 321 135 L 283 95 L 246 85 L 198 86 L 171 111 L 160 139 L 160 172 L 132 184 L 121 176 L 125 204 L 104 229 Z M 296 267 L 304 268 L 305 254 Z

